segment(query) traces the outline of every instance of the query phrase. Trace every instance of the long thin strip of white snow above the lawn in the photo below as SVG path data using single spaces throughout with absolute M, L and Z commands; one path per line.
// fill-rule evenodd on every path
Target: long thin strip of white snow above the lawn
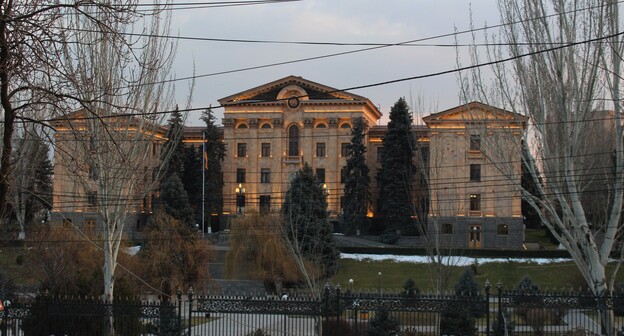
M 393 254 L 357 254 L 357 253 L 341 253 L 341 259 L 354 259 L 360 261 L 382 261 L 389 260 L 394 262 L 408 262 L 414 264 L 427 264 L 431 262 L 428 256 L 405 256 Z M 458 256 L 441 257 L 444 264 L 455 266 L 468 266 L 474 263 L 534 263 L 534 264 L 553 264 L 571 261 L 567 258 L 470 258 Z M 436 257 L 437 260 L 437 257 Z

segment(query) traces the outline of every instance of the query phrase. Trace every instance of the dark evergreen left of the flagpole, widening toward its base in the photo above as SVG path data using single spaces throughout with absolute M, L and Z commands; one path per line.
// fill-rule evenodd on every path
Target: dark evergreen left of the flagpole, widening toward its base
M 163 145 L 162 153 L 166 156 L 161 157 L 164 168 L 160 179 L 159 203 L 165 213 L 194 227 L 195 214 L 182 183 L 185 161 L 183 128 L 182 114 L 176 108 L 171 113 L 167 141 Z

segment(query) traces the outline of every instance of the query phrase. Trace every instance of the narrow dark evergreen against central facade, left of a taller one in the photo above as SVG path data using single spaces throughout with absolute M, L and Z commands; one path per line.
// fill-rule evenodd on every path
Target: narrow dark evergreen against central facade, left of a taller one
M 349 157 L 345 166 L 345 189 L 343 219 L 346 234 L 363 230 L 370 203 L 370 177 L 366 165 L 366 146 L 364 145 L 364 119 L 355 120 L 351 129 Z

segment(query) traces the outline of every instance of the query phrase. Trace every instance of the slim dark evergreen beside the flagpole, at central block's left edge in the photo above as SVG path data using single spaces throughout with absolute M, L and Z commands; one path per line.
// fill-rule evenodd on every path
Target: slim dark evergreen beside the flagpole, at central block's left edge
M 211 214 L 223 212 L 223 160 L 225 159 L 225 144 L 221 141 L 219 128 L 215 125 L 215 117 L 212 110 L 207 109 L 202 115 L 202 120 L 206 123 L 205 148 L 202 150 L 202 162 L 205 171 L 205 215 L 206 225 Z

